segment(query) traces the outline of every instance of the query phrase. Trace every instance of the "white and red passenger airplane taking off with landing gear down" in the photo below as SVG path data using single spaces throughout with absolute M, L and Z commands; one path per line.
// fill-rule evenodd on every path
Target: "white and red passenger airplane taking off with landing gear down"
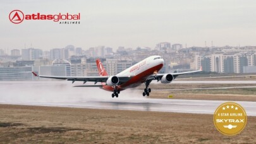
M 100 87 L 104 90 L 113 92 L 112 97 L 118 97 L 120 91 L 127 88 L 138 87 L 142 83 L 145 84 L 145 89 L 142 95 L 149 96 L 149 93 L 151 92 L 149 84 L 152 80 L 161 81 L 161 83 L 171 83 L 171 81 L 175 80 L 175 78 L 179 75 L 202 71 L 201 67 L 200 70 L 196 71 L 159 74 L 159 70 L 162 68 L 162 66 L 164 66 L 164 59 L 162 59 L 161 56 L 147 57 L 114 76 L 107 75 L 107 71 L 99 59 L 96 60 L 96 64 L 99 71 L 99 76 L 44 76 L 37 75 L 34 71 L 32 71 L 32 73 L 34 76 L 38 76 L 40 78 L 68 80 L 72 81 L 72 83 L 75 81 L 83 81 L 83 84 L 85 84 L 87 81 L 93 81 L 94 85 L 78 85 L 74 87 Z M 95 85 L 98 82 L 101 82 L 101 85 Z

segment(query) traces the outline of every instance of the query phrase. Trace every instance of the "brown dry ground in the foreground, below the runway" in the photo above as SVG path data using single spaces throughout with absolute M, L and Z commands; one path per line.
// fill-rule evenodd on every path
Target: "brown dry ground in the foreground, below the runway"
M 224 136 L 210 114 L 0 105 L 1 143 L 256 143 L 256 117 Z

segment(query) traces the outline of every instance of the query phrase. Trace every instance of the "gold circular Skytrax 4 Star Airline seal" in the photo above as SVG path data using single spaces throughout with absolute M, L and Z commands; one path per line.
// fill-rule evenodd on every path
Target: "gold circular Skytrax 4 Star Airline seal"
M 247 124 L 247 114 L 240 104 L 225 102 L 214 112 L 214 125 L 224 135 L 237 135 Z

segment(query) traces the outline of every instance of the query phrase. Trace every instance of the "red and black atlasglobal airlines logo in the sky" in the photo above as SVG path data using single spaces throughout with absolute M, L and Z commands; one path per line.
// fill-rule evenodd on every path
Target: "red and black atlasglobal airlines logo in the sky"
M 55 15 L 33 13 L 24 15 L 20 10 L 13 10 L 9 13 L 9 20 L 15 24 L 21 23 L 23 20 L 52 20 L 59 22 L 59 24 L 80 24 L 80 13 L 58 13 Z

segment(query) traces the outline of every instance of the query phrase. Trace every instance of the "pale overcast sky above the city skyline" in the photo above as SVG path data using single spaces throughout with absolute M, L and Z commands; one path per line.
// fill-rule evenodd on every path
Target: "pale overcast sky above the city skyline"
M 192 46 L 256 45 L 256 1 L 235 0 L 14 0 L 0 1 L 0 49 L 50 50 L 73 44 L 151 47 L 159 42 Z M 80 24 L 52 20 L 9 21 L 9 13 L 80 13 Z

